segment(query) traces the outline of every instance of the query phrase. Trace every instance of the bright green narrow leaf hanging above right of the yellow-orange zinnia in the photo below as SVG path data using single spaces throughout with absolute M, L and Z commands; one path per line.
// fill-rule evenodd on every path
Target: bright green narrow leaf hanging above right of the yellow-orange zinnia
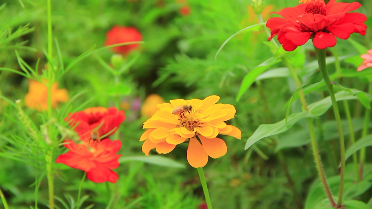
M 254 68 L 252 71 L 250 71 L 243 79 L 238 96 L 236 98 L 237 101 L 240 100 L 240 97 L 249 89 L 249 87 L 253 84 L 253 82 L 256 80 L 256 78 L 263 73 L 267 68 L 269 68 L 271 65 L 279 62 L 276 58 L 270 58 L 261 64 L 259 64 L 256 68 Z

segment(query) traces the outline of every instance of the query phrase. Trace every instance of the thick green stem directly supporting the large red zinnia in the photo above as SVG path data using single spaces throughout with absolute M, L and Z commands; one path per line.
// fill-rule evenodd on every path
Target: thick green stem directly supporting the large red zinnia
M 327 64 L 325 62 L 325 50 L 324 49 L 318 49 L 318 48 L 315 47 L 315 53 L 317 54 L 319 68 L 323 73 L 323 78 L 324 78 L 325 84 L 327 85 L 328 92 L 329 92 L 331 100 L 332 100 L 334 116 L 336 118 L 337 128 L 339 130 L 341 167 L 340 167 L 340 192 L 339 192 L 339 200 L 337 202 L 337 208 L 340 208 L 341 205 L 342 205 L 342 197 L 343 197 L 343 189 L 344 189 L 344 176 L 345 176 L 344 134 L 343 134 L 343 131 L 342 131 L 342 124 L 341 124 L 341 116 L 340 116 L 340 112 L 339 112 L 339 106 L 337 106 L 336 96 L 334 94 L 331 79 L 330 79 L 328 71 L 327 71 Z

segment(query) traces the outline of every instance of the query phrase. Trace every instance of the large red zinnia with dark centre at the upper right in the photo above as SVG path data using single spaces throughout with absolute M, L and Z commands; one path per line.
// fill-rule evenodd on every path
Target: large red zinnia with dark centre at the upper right
M 330 0 L 301 0 L 303 4 L 287 7 L 280 12 L 273 12 L 282 17 L 270 18 L 266 26 L 271 30 L 269 41 L 278 35 L 278 41 L 286 51 L 293 51 L 305 44 L 310 38 L 318 49 L 336 45 L 336 37 L 349 38 L 351 33 L 366 34 L 367 26 L 363 23 L 366 15 L 347 13 L 362 6 L 358 2 L 335 3 Z

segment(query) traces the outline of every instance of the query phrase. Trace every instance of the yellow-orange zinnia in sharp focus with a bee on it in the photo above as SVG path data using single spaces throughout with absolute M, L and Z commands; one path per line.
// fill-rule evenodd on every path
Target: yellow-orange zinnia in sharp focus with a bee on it
M 204 167 L 208 156 L 219 158 L 227 152 L 224 140 L 218 134 L 241 138 L 241 131 L 226 120 L 235 116 L 235 107 L 216 104 L 219 96 L 200 99 L 174 99 L 170 103 L 157 105 L 160 109 L 146 122 L 147 128 L 140 141 L 142 151 L 148 155 L 155 148 L 159 154 L 167 154 L 183 142 L 189 143 L 187 161 L 192 167 Z

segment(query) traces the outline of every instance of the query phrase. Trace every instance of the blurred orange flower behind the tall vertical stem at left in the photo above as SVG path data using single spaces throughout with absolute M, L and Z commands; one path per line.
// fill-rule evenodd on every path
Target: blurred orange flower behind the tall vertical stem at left
M 58 106 L 58 102 L 67 102 L 69 99 L 66 89 L 58 89 L 58 82 L 51 87 L 52 107 Z M 48 89 L 43 83 L 30 80 L 28 93 L 25 96 L 25 105 L 28 108 L 41 110 L 48 109 Z

